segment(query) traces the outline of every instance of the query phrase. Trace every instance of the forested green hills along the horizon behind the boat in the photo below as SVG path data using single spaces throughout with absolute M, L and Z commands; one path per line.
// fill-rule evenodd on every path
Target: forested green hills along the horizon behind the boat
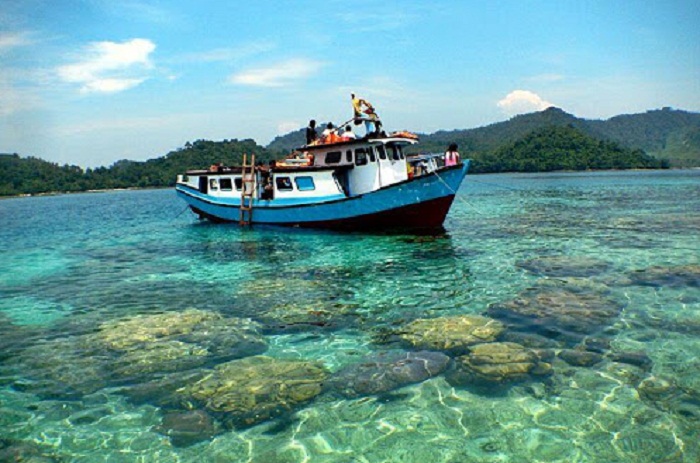
M 442 152 L 458 143 L 462 155 L 472 159 L 470 172 L 477 174 L 700 166 L 700 113 L 671 108 L 587 120 L 552 107 L 476 129 L 419 135 L 421 143 L 412 152 Z M 249 139 L 197 140 L 148 161 L 121 160 L 85 170 L 0 154 L 0 196 L 169 187 L 188 169 L 240 164 L 243 153 L 268 162 L 303 144 L 303 129 L 266 147 Z

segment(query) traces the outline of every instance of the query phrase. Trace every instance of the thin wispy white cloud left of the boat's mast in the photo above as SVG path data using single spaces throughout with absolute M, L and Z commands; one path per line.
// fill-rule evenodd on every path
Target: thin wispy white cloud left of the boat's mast
M 283 87 L 293 81 L 311 77 L 323 64 L 307 59 L 290 59 L 265 68 L 249 69 L 229 76 L 229 82 L 257 87 Z

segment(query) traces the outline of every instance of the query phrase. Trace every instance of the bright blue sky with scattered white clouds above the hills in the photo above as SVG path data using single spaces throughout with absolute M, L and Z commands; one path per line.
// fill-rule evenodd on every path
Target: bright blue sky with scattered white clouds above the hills
M 84 168 L 342 123 L 700 111 L 699 0 L 0 0 L 0 153 Z

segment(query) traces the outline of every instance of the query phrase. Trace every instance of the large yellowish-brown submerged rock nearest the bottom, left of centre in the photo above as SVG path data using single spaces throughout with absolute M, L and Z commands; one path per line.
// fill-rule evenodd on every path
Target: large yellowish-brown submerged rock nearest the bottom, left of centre
M 255 356 L 216 366 L 178 391 L 229 427 L 252 426 L 294 410 L 321 393 L 327 370 L 317 362 Z

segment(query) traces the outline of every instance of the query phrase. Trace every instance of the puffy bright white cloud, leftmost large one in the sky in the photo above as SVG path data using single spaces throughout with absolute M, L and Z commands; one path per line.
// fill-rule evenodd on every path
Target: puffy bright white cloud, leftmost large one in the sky
M 58 76 L 65 82 L 80 84 L 81 92 L 121 92 L 147 79 L 147 71 L 153 67 L 149 55 L 155 48 L 147 39 L 94 42 L 86 47 L 85 58 L 60 66 Z

